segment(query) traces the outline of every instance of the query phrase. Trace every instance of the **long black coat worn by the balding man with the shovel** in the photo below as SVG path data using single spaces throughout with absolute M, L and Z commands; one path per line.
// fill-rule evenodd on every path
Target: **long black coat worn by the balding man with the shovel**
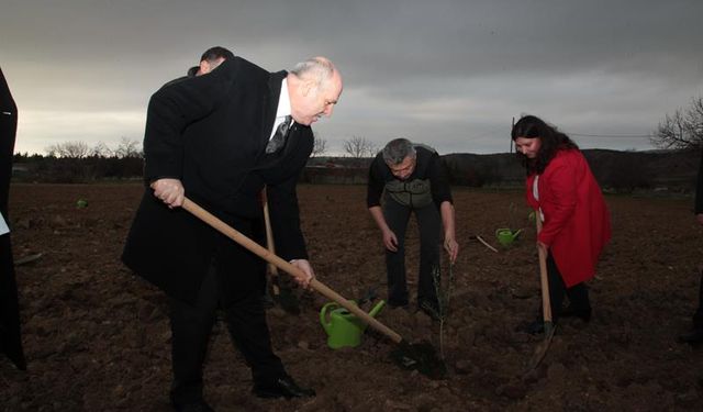
M 144 177 L 147 185 L 180 179 L 186 196 L 235 229 L 260 219 L 266 185 L 277 253 L 308 258 L 295 183 L 312 153 L 312 130 L 293 124 L 286 146 L 265 153 L 286 76 L 235 57 L 209 75 L 164 86 L 148 105 Z M 147 187 L 122 259 L 169 296 L 193 301 L 212 257 L 239 247 L 228 240 L 224 245 L 221 234 L 167 208 Z M 236 271 L 236 263 L 228 265 Z

